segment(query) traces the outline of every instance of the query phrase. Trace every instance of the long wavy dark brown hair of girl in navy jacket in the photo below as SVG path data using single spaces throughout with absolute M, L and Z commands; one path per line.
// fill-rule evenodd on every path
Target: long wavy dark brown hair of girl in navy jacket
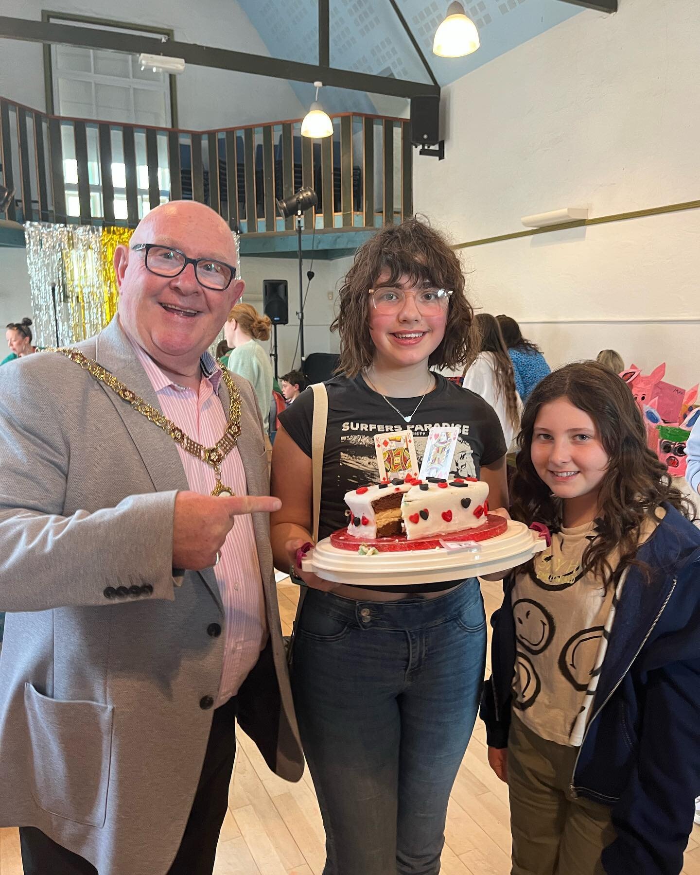
M 574 362 L 560 367 L 544 377 L 528 396 L 511 484 L 514 519 L 527 525 L 543 522 L 553 531 L 562 525 L 562 500 L 551 494 L 530 458 L 537 414 L 543 404 L 558 398 L 566 398 L 591 416 L 609 458 L 598 495 L 597 535 L 585 549 L 584 572 L 591 572 L 607 585 L 619 580 L 627 566 L 637 565 L 649 579 L 648 565 L 634 558 L 643 521 L 663 502 L 693 519 L 692 505 L 673 485 L 666 466 L 649 449 L 644 420 L 627 383 L 598 362 Z M 609 557 L 614 549 L 619 551 L 620 562 L 613 574 Z M 531 565 L 532 562 L 525 567 L 531 569 Z

